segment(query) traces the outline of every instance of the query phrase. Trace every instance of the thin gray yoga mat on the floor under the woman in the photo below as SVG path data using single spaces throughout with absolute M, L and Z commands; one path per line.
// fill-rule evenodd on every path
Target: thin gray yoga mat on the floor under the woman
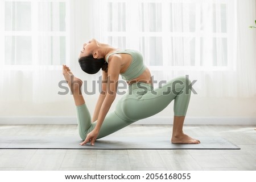
M 77 136 L 0 137 L 0 149 L 240 149 L 221 137 L 195 137 L 200 144 L 173 144 L 169 137 L 115 137 L 98 139 L 94 146 L 80 146 Z

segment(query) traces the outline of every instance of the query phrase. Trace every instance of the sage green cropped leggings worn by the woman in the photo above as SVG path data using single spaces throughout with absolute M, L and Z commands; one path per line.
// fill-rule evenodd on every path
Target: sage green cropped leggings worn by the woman
M 178 77 L 163 86 L 153 89 L 150 84 L 134 83 L 117 103 L 115 111 L 109 112 L 101 126 L 98 138 L 108 136 L 135 121 L 159 113 L 174 100 L 174 115 L 185 116 L 191 96 L 191 82 L 186 77 Z M 85 104 L 77 108 L 79 134 L 81 139 L 96 126 L 92 122 Z

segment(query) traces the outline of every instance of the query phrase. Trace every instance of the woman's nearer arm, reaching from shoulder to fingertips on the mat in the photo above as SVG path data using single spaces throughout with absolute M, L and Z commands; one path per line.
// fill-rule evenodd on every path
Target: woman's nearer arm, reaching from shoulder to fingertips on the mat
M 80 143 L 80 145 L 84 145 L 85 143 L 88 143 L 88 142 L 94 145 L 98 137 L 98 133 L 100 132 L 101 125 L 115 99 L 120 70 L 121 70 L 121 57 L 119 57 L 118 55 L 114 55 L 112 59 L 109 60 L 106 96 L 101 105 L 100 112 L 98 113 L 97 124 L 95 128 L 92 130 L 92 132 L 90 132 L 87 135 L 87 137 L 85 138 L 85 141 Z

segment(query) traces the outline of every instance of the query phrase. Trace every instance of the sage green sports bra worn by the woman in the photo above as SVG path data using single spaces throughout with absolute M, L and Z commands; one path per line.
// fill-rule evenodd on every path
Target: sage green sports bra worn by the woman
M 118 50 L 117 52 L 111 53 L 106 57 L 106 62 L 109 62 L 109 56 L 113 54 L 130 54 L 132 57 L 131 64 L 125 71 L 125 73 L 121 73 L 122 79 L 125 81 L 130 81 L 134 78 L 139 77 L 146 70 L 146 66 L 143 62 L 143 56 L 137 50 L 125 49 Z

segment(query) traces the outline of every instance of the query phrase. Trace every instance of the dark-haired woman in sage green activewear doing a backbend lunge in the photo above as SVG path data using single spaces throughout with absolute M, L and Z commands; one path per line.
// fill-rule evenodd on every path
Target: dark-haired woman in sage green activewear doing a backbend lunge
M 82 81 L 71 73 L 69 67 L 63 65 L 63 75 L 71 88 L 77 108 L 79 134 L 84 140 L 80 145 L 88 142 L 94 145 L 96 139 L 162 111 L 172 100 L 175 116 L 171 142 L 200 143 L 183 133 L 191 96 L 190 90 L 185 92 L 185 87 L 189 84 L 185 77 L 173 79 L 161 88 L 153 89 L 150 70 L 143 64 L 141 53 L 119 50 L 95 39 L 83 45 L 79 64 L 89 74 L 102 69 L 102 91 L 91 119 L 81 94 Z M 129 92 L 118 101 L 115 111 L 109 112 L 116 96 L 119 74 L 129 84 Z

